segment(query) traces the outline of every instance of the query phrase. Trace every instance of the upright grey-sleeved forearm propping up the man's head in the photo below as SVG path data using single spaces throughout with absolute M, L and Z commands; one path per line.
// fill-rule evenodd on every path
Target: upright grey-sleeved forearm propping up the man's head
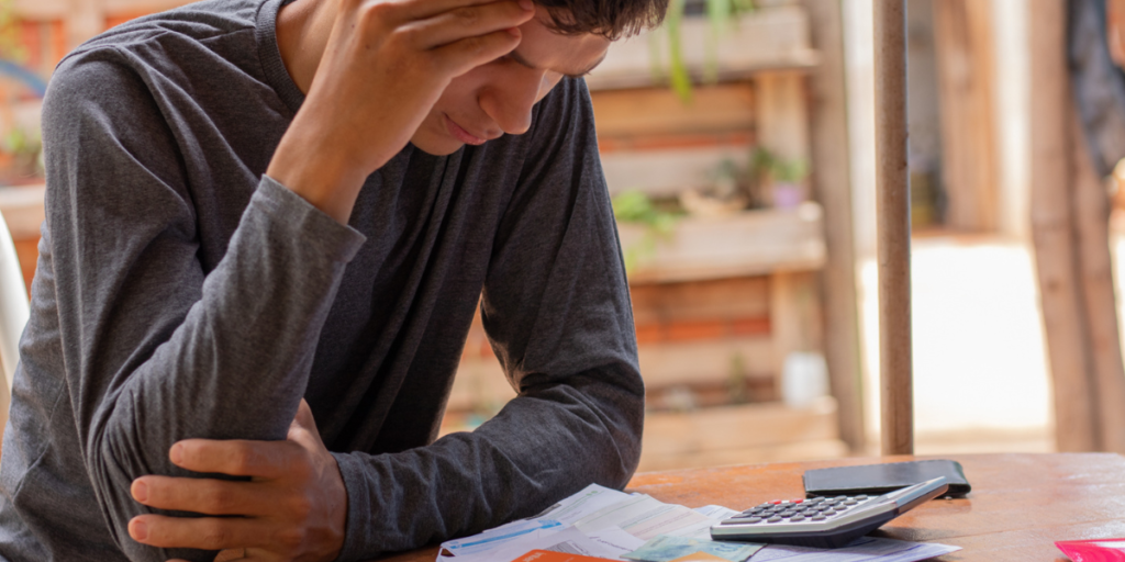
M 284 439 L 304 393 L 321 327 L 362 236 L 263 180 L 198 301 L 138 364 L 97 361 L 93 347 L 127 345 L 123 329 L 80 342 L 80 380 L 98 406 L 83 419 L 94 490 L 137 560 L 163 560 L 126 534 L 142 506 L 128 497 L 144 474 L 181 474 L 169 447 L 188 437 Z M 159 306 L 159 303 L 151 303 Z M 127 324 L 123 316 L 118 320 Z M 101 388 L 99 388 L 101 387 Z M 101 396 L 97 396 L 101 393 Z

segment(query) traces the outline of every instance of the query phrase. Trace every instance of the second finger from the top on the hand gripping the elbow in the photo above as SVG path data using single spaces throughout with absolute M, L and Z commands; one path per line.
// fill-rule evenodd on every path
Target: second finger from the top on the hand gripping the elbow
M 148 507 L 207 515 L 268 515 L 280 507 L 277 495 L 256 482 L 142 477 L 129 491 Z

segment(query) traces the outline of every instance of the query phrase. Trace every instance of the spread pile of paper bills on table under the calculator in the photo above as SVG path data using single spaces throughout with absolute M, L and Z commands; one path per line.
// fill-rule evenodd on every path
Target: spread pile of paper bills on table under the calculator
M 721 506 L 691 509 L 642 493 L 624 493 L 591 484 L 534 517 L 442 543 L 436 562 L 508 562 L 536 550 L 627 562 L 662 562 L 674 558 L 660 558 L 660 553 L 667 552 L 670 556 L 672 552 L 678 552 L 672 543 L 682 545 L 687 541 L 658 537 L 711 542 L 711 526 L 737 513 Z M 650 540 L 657 541 L 646 545 Z M 719 549 L 714 552 L 700 550 L 722 556 L 724 554 L 718 550 L 727 545 L 736 546 L 730 550 L 737 553 L 731 556 L 740 556 L 736 562 L 747 560 L 746 556 L 752 562 L 912 562 L 958 550 L 940 544 L 871 537 L 832 550 L 780 545 L 763 549 L 763 545 L 732 542 L 717 545 Z M 647 558 L 629 556 L 642 546 L 646 549 L 638 554 Z

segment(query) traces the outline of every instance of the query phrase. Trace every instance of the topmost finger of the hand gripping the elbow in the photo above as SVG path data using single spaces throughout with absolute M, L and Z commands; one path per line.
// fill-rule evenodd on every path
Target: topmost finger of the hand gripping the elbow
M 195 472 L 277 479 L 288 472 L 299 451 L 285 441 L 183 439 L 172 445 L 169 459 Z

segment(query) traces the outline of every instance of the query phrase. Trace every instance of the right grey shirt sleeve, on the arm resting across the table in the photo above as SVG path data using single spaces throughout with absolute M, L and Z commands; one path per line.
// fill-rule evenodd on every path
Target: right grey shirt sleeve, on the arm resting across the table
M 482 312 L 519 396 L 471 433 L 402 453 L 336 454 L 349 490 L 341 560 L 533 515 L 637 468 L 645 389 L 585 83 L 537 107 Z

